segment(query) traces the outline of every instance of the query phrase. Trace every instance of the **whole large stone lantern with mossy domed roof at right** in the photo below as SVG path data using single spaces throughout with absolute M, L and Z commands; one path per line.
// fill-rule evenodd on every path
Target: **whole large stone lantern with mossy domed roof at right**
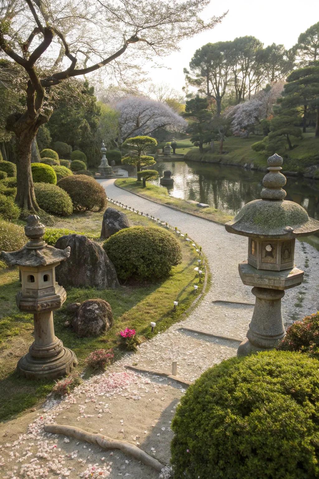
M 281 299 L 285 290 L 300 285 L 304 272 L 294 266 L 295 239 L 319 230 L 319 221 L 293 201 L 286 201 L 283 159 L 268 158 L 261 200 L 247 203 L 225 228 L 248 237 L 247 261 L 239 263 L 244 285 L 253 286 L 256 297 L 253 318 L 237 351 L 242 356 L 275 348 L 285 337 Z

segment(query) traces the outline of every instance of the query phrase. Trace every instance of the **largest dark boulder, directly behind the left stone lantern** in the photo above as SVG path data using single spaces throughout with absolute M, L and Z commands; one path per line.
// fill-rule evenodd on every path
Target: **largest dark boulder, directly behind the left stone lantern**
M 76 234 L 61 236 L 55 243 L 55 248 L 62 250 L 67 246 L 71 248 L 70 257 L 55 270 L 59 285 L 100 289 L 119 285 L 113 263 L 98 243 Z

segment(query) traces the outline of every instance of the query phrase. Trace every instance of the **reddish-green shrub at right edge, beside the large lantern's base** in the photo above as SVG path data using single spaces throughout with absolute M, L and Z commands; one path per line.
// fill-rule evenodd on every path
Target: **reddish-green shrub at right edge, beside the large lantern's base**
M 319 311 L 289 326 L 278 350 L 299 351 L 319 359 Z

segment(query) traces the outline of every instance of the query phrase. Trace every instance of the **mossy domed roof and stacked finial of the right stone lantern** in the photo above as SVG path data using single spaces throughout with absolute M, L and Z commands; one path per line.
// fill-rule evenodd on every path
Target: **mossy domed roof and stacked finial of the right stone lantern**
M 243 206 L 225 228 L 229 233 L 252 238 L 293 239 L 319 230 L 319 221 L 294 201 L 286 201 L 286 177 L 280 172 L 283 159 L 275 153 L 268 158 L 269 171 L 263 179 L 261 200 Z

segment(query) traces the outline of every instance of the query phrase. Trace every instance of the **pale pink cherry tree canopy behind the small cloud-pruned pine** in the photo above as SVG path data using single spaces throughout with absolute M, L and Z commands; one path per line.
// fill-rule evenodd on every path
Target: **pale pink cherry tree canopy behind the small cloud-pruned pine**
M 187 122 L 165 103 L 144 97 L 124 99 L 116 104 L 120 112 L 121 138 L 151 135 L 156 128 L 185 131 Z

